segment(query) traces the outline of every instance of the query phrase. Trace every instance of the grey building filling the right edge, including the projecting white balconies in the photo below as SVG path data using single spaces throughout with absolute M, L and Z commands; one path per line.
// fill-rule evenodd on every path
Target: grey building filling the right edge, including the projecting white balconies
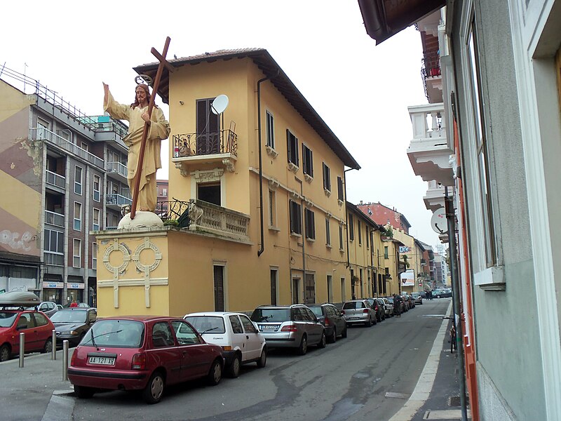
M 435 58 L 407 154 L 427 208 L 454 199 L 473 420 L 561 420 L 561 1 L 359 4 L 377 43 L 417 22 Z

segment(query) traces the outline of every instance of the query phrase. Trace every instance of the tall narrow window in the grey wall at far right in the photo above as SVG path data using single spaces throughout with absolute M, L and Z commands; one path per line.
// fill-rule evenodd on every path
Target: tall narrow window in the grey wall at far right
M 480 191 L 480 218 L 481 224 L 476 224 L 480 227 L 480 235 L 485 246 L 485 263 L 487 267 L 494 265 L 496 261 L 496 250 L 494 243 L 494 223 L 492 218 L 491 206 L 491 189 L 489 186 L 489 163 L 487 157 L 487 139 L 485 134 L 485 116 L 480 95 L 481 83 L 478 74 L 478 53 L 475 45 L 477 44 L 474 35 L 475 27 L 472 24 L 471 34 L 468 39 L 468 60 L 471 71 L 471 94 L 473 105 L 473 123 L 475 125 L 475 154 L 477 156 L 477 166 L 479 175 L 479 191 Z

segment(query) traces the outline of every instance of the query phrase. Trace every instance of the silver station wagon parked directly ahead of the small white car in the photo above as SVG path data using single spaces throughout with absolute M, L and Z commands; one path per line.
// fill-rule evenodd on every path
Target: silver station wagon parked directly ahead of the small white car
M 308 345 L 324 348 L 325 328 L 305 305 L 263 305 L 253 310 L 251 320 L 257 323 L 269 348 L 296 348 L 304 355 Z

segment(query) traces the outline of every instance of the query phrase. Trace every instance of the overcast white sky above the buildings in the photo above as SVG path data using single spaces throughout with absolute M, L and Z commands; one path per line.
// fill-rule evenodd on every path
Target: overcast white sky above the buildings
M 0 67 L 38 79 L 85 114 L 102 114 L 102 81 L 132 102 L 132 68 L 154 62 L 150 49 L 161 52 L 166 36 L 168 58 L 266 48 L 362 167 L 346 173 L 347 199 L 396 208 L 415 238 L 440 243 L 426 183 L 406 154 L 407 106 L 427 102 L 413 27 L 375 46 L 356 0 L 10 1 L 2 17 Z

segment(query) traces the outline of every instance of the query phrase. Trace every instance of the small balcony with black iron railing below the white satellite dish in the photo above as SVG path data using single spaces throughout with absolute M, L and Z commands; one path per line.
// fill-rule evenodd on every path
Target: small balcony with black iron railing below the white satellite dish
M 234 172 L 238 159 L 238 135 L 234 131 L 222 130 L 203 135 L 196 133 L 173 135 L 172 142 L 171 161 L 184 177 L 189 175 L 189 171 L 206 163 Z

